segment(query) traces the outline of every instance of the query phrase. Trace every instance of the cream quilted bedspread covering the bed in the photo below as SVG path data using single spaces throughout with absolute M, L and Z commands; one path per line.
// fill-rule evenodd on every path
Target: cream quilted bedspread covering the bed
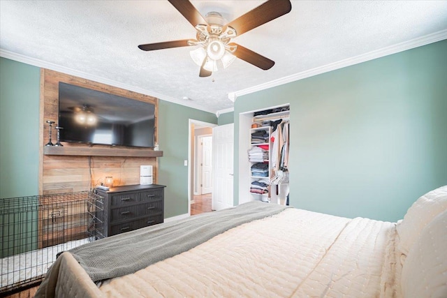
M 96 288 L 69 253 L 42 297 L 395 297 L 395 223 L 301 209 L 237 226 Z M 51 276 L 52 275 L 52 276 Z

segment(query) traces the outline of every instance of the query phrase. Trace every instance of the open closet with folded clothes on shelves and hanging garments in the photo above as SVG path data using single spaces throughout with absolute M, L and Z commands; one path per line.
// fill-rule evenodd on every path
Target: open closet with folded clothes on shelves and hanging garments
M 240 114 L 239 204 L 288 204 L 290 105 Z

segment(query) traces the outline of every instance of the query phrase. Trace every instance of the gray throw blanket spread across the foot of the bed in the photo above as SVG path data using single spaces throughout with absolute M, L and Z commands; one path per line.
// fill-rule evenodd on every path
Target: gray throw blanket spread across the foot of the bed
M 69 252 L 93 281 L 124 276 L 198 246 L 237 225 L 272 216 L 286 206 L 248 202 L 237 207 L 91 242 Z

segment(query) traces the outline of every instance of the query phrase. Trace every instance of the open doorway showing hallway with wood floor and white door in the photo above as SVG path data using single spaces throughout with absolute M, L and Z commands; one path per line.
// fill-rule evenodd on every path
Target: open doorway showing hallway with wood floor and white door
M 212 199 L 212 128 L 189 119 L 188 213 L 210 212 Z

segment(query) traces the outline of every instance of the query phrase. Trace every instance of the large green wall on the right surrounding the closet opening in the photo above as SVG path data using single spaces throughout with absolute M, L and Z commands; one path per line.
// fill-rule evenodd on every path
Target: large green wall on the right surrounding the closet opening
M 291 104 L 294 207 L 397 221 L 447 184 L 446 53 L 443 40 L 241 96 L 235 115 Z

